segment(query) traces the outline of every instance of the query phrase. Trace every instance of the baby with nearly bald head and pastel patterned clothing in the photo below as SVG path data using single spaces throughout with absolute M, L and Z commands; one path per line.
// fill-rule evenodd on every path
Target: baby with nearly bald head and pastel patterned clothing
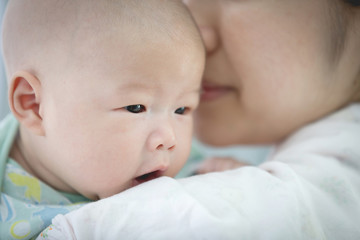
M 3 50 L 0 239 L 185 163 L 205 55 L 181 1 L 12 0 Z

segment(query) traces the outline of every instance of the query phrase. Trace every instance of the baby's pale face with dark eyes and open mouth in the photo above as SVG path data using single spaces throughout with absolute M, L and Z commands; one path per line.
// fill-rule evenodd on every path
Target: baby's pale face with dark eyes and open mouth
M 190 150 L 202 50 L 121 36 L 84 44 L 43 86 L 55 187 L 97 199 L 174 176 Z

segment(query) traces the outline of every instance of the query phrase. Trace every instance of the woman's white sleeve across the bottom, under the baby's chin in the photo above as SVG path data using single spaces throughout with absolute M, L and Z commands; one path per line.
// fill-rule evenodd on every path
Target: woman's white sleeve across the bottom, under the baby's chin
M 313 184 L 284 163 L 263 167 L 274 174 L 245 167 L 179 181 L 162 177 L 53 224 L 72 231 L 72 239 L 359 239 L 359 185 L 346 175 Z

